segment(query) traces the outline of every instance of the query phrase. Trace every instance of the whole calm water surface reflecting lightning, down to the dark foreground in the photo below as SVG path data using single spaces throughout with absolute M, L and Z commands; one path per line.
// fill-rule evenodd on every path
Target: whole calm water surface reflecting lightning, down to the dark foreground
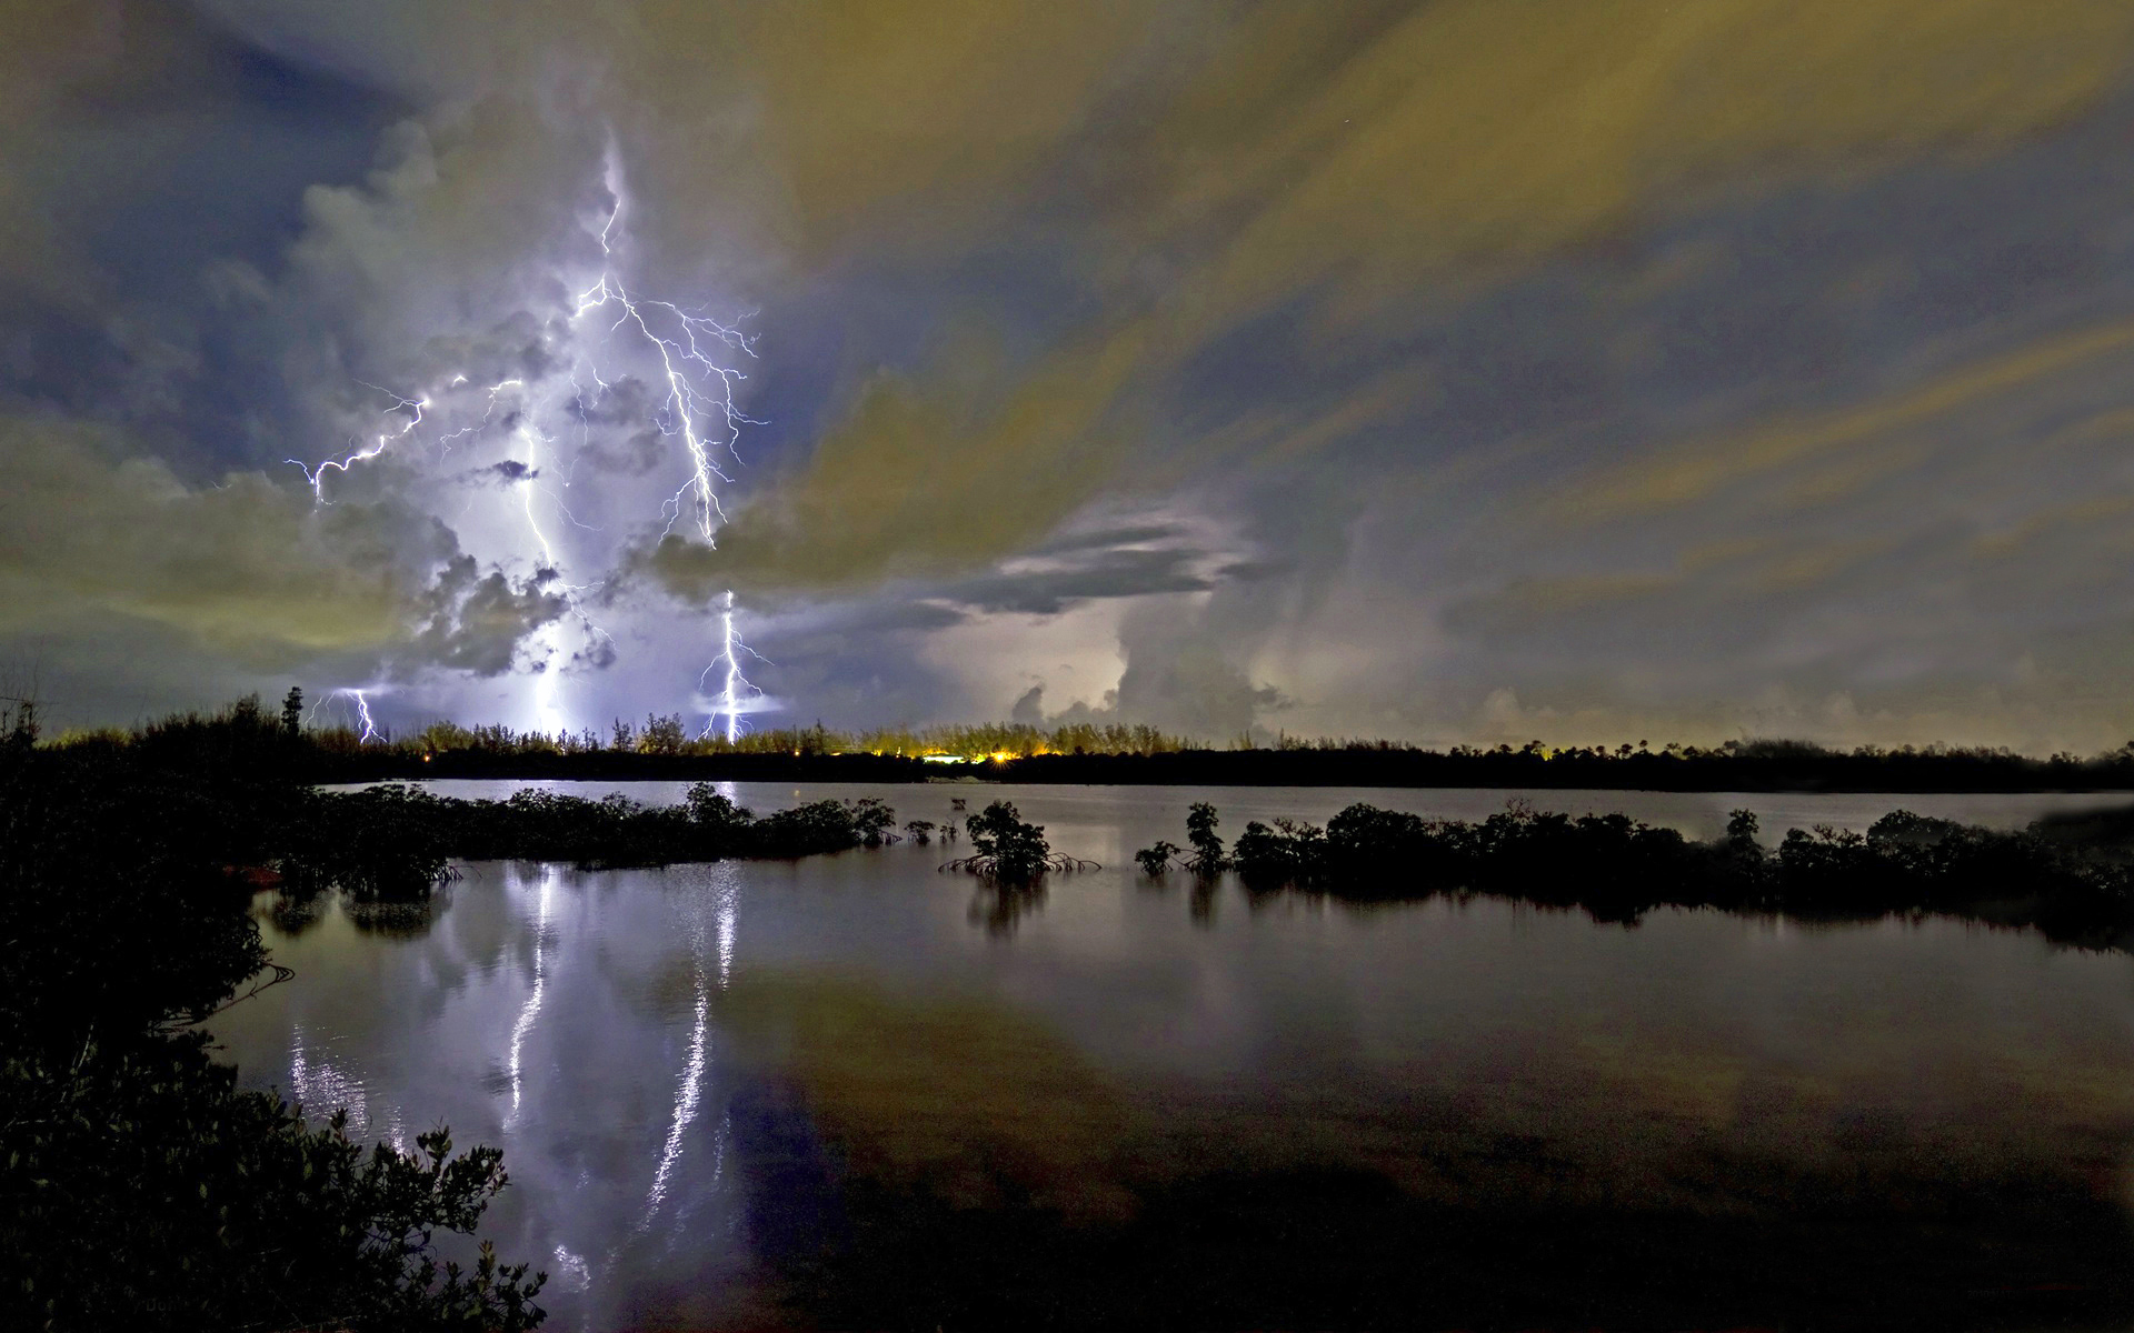
M 732 793 L 945 819 L 999 789 Z M 2125 955 L 1940 919 L 1359 911 L 1129 862 L 1189 800 L 1236 834 L 1504 793 L 1007 796 L 1103 870 L 1001 902 L 939 845 L 478 864 L 425 921 L 269 921 L 297 981 L 213 1030 L 359 1137 L 499 1143 L 484 1231 L 551 1271 L 557 1329 L 2134 1322 Z M 1694 836 L 1748 804 L 1775 836 L 2119 800 L 1536 804 Z

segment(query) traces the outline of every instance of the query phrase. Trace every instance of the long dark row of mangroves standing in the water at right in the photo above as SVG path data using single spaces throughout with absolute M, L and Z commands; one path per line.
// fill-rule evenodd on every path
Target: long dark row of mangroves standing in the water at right
M 2070 832 L 2079 828 L 2089 836 Z M 1637 921 L 1656 906 L 1959 913 L 2034 926 L 2055 941 L 2119 945 L 2134 938 L 2130 832 L 2064 823 L 1995 832 L 1895 810 L 1865 834 L 1790 830 L 1765 851 L 1746 810 L 1724 838 L 1690 842 L 1628 815 L 1573 819 L 1515 804 L 1468 823 L 1355 804 L 1325 828 L 1246 823 L 1229 864 L 1248 887 L 1342 898 L 1494 894 L 1581 906 L 1607 921 Z M 1161 862 L 1169 851 L 1159 842 L 1140 855 Z

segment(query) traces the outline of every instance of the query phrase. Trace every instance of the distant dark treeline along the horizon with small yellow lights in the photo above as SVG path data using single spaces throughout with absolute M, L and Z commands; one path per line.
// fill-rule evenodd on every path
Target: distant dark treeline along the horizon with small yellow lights
M 1541 740 L 1445 751 L 1400 740 L 1238 736 L 1212 744 L 1148 725 L 988 723 L 873 732 L 775 727 L 736 740 L 691 736 L 681 714 L 617 719 L 606 732 L 516 732 L 435 721 L 414 734 L 307 727 L 303 691 L 284 700 L 297 738 L 286 764 L 314 783 L 386 778 L 730 778 L 918 783 L 975 776 L 997 783 L 1278 785 L 1278 787 L 1515 787 L 1588 791 L 2134 791 L 2134 740 L 2102 755 L 2019 755 L 2006 749 L 1859 746 L 1729 740 L 1701 749 L 1639 740 L 1549 746 Z M 77 732 L 60 744 L 130 742 L 124 732 Z

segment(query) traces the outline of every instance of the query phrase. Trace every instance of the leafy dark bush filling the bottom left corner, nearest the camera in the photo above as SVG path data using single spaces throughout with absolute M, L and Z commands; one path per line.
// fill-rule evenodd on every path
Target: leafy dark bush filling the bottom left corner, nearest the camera
M 198 1039 L 85 1045 L 0 1066 L 9 1327 L 531 1329 L 542 1280 L 472 1233 L 506 1175 L 493 1147 L 365 1152 L 275 1096 L 241 1094 Z

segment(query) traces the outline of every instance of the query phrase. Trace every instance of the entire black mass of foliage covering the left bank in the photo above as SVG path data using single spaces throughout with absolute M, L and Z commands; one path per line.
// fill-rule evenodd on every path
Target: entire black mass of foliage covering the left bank
M 256 704 L 137 744 L 19 732 L 0 742 L 0 1327 L 538 1324 L 540 1278 L 431 1248 L 504 1188 L 495 1150 L 452 1156 L 437 1130 L 365 1154 L 339 1118 L 237 1092 L 186 1030 L 271 970 L 248 868 L 382 894 L 431 849 L 320 834 Z

